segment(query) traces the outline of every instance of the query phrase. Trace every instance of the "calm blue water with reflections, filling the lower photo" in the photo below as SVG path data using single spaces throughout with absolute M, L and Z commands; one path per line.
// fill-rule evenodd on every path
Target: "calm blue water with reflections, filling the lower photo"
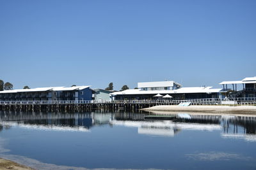
M 256 169 L 255 117 L 145 115 L 1 112 L 0 157 L 36 169 Z

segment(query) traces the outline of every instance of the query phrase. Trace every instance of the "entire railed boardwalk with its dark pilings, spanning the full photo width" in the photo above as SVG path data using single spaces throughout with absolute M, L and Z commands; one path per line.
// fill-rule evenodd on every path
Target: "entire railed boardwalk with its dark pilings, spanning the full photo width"
M 97 103 L 94 101 L 0 101 L 0 110 L 15 111 L 90 111 L 140 110 L 157 105 L 177 105 L 189 102 L 191 105 L 221 105 L 222 101 L 236 101 L 237 106 L 255 105 L 256 97 L 232 99 L 188 99 L 188 100 L 122 100 Z

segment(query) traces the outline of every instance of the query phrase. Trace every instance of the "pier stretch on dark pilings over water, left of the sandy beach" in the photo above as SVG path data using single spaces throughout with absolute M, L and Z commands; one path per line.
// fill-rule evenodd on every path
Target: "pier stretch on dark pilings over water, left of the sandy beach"
M 92 110 L 140 110 L 156 106 L 157 101 L 111 101 L 93 103 L 92 101 L 0 101 L 0 110 L 14 111 L 92 111 Z

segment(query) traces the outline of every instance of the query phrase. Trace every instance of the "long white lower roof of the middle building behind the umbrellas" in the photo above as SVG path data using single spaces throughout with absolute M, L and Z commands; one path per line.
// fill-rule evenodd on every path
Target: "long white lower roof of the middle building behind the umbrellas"
M 129 89 L 122 92 L 113 92 L 111 95 L 131 95 L 131 94 L 184 94 L 184 93 L 214 93 L 220 92 L 222 89 L 211 89 L 212 87 L 182 87 L 177 90 L 140 90 Z

